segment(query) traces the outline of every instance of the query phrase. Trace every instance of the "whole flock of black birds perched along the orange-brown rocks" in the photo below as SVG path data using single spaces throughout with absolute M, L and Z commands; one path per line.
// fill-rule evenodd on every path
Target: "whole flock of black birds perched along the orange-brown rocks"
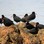
M 39 24 L 38 22 L 36 23 L 35 27 L 29 23 L 29 21 L 34 20 L 35 18 L 36 18 L 35 12 L 32 12 L 30 15 L 25 14 L 23 18 L 20 18 L 20 17 L 16 16 L 16 14 L 13 14 L 13 20 L 15 22 L 17 22 L 17 23 L 20 22 L 20 21 L 26 23 L 25 27 L 27 29 L 31 29 L 28 32 L 32 33 L 32 34 L 37 34 L 39 29 L 44 28 L 44 25 L 43 24 Z M 10 20 L 9 18 L 5 17 L 4 15 L 2 15 L 2 18 L 0 18 L 0 24 L 2 24 L 2 23 L 5 26 L 14 25 L 13 21 Z

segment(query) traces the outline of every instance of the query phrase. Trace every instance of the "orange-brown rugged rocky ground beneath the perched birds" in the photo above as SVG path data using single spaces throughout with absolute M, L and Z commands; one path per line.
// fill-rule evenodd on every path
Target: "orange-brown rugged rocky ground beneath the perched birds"
M 36 25 L 36 23 L 31 23 Z M 39 29 L 38 34 L 26 32 L 25 23 L 18 23 L 9 27 L 0 27 L 0 44 L 44 44 L 44 29 Z M 20 30 L 20 33 L 16 32 Z

